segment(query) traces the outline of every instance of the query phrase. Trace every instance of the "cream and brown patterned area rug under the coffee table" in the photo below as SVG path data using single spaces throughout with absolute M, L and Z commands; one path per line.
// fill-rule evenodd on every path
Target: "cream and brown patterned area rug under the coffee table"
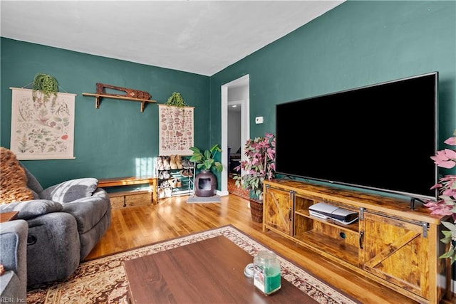
M 128 303 L 128 283 L 123 261 L 196 243 L 215 236 L 224 236 L 253 257 L 260 250 L 269 249 L 242 233 L 232 225 L 189 234 L 122 253 L 115 253 L 81 263 L 66 281 L 50 283 L 27 293 L 27 303 Z M 335 288 L 306 273 L 291 261 L 278 256 L 281 277 L 289 281 L 318 303 L 358 303 Z

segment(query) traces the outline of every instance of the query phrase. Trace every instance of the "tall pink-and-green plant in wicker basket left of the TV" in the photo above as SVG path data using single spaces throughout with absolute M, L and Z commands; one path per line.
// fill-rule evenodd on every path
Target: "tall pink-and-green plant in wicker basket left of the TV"
M 244 154 L 247 160 L 242 161 L 235 169 L 242 170 L 236 174 L 236 186 L 250 190 L 250 211 L 252 220 L 263 221 L 263 181 L 272 179 L 276 173 L 276 137 L 266 133 L 264 137 L 249 139 Z

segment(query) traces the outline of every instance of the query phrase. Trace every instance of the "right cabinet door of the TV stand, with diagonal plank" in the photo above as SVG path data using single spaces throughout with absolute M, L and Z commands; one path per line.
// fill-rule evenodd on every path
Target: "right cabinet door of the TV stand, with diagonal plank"
M 364 270 L 423 298 L 429 298 L 429 246 L 422 224 L 364 213 Z

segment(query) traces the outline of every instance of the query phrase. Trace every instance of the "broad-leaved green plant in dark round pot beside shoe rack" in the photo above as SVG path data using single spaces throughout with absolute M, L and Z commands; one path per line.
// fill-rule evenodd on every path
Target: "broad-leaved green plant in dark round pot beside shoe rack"
M 197 196 L 214 196 L 217 189 L 217 177 L 211 172 L 214 168 L 216 171 L 223 170 L 222 164 L 214 159 L 217 152 L 222 152 L 219 145 L 213 145 L 209 150 L 202 152 L 197 147 L 190 147 L 193 151 L 190 162 L 197 164 L 197 169 L 201 171 L 195 176 L 195 194 Z

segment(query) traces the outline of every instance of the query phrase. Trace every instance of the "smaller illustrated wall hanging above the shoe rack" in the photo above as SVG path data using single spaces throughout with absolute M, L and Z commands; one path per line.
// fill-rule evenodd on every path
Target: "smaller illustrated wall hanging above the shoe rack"
M 194 107 L 158 105 L 159 155 L 191 155 Z

